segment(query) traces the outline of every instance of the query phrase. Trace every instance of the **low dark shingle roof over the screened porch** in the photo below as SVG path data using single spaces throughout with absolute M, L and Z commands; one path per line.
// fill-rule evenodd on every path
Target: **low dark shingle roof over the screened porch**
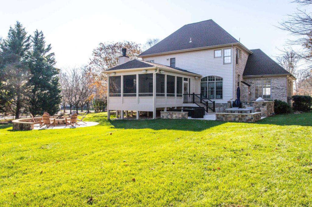
M 154 63 L 154 62 L 147 62 L 144 60 L 130 60 L 128 62 L 125 62 L 124 64 L 112 67 L 106 71 L 115 71 L 115 70 L 125 70 L 125 69 L 134 69 L 134 68 L 144 68 L 144 67 L 162 67 L 162 68 L 167 68 L 167 69 L 171 69 L 171 70 L 177 70 L 177 71 L 182 71 L 182 72 L 187 72 L 187 73 L 193 73 L 178 67 L 169 67 L 166 65 L 161 65 L 158 63 Z M 193 73 L 195 75 L 199 75 L 197 73 Z M 200 76 L 200 75 L 199 75 Z

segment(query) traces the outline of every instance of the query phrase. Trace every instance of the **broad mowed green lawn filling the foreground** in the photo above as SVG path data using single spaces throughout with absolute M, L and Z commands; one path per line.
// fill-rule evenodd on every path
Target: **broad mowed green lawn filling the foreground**
M 0 206 L 311 206 L 311 118 L 0 125 Z

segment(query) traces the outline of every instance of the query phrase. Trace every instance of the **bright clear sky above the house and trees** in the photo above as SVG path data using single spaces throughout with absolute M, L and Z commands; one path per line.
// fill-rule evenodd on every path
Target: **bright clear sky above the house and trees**
M 0 7 L 0 36 L 20 21 L 29 34 L 42 30 L 55 52 L 57 67 L 89 62 L 100 42 L 163 39 L 185 24 L 214 20 L 249 49 L 279 54 L 289 38 L 277 29 L 296 10 L 290 0 L 86 1 L 10 0 Z

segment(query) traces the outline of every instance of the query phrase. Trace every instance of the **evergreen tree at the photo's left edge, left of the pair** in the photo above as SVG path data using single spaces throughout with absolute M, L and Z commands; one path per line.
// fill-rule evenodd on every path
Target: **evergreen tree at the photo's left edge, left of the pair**
M 10 27 L 7 38 L 0 42 L 0 109 L 15 114 L 15 118 L 19 118 L 27 101 L 27 82 L 31 74 L 26 62 L 30 47 L 30 35 L 18 21 L 14 28 Z

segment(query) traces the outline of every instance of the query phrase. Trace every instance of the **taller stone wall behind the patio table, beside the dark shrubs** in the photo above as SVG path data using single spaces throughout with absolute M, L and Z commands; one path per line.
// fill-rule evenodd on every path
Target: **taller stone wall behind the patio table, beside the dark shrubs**
M 227 102 L 228 108 L 231 108 L 231 102 Z M 254 112 L 261 112 L 261 117 L 269 117 L 274 113 L 274 101 L 241 101 L 241 107 L 253 107 Z

